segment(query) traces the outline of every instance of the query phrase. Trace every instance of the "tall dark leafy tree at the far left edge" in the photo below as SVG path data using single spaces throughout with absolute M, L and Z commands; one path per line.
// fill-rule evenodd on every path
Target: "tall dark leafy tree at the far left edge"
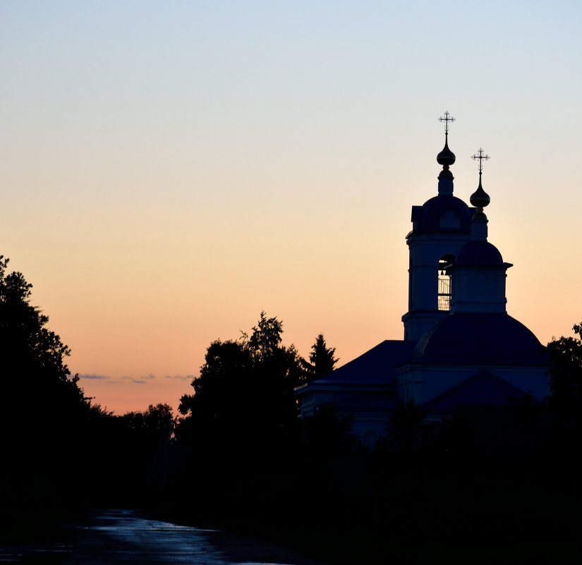
M 7 273 L 0 256 L 0 426 L 3 446 L 53 452 L 80 441 L 82 421 L 99 413 L 71 376 L 71 350 L 47 329 L 49 317 L 30 304 L 32 284 L 20 272 Z M 68 442 L 66 441 L 68 439 Z

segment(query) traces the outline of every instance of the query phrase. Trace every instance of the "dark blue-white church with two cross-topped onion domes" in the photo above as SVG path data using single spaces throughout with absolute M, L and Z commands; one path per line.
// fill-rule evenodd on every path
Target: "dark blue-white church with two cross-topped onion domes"
M 406 236 L 408 312 L 404 340 L 386 340 L 296 389 L 301 415 L 322 404 L 353 415 L 353 430 L 368 446 L 385 435 L 391 411 L 401 401 L 423 406 L 429 420 L 452 415 L 457 406 L 505 406 L 528 396 L 539 404 L 549 394 L 545 348 L 507 314 L 505 280 L 511 263 L 487 241 L 490 198 L 479 184 L 471 205 L 453 195 L 448 112 L 438 193 L 412 207 Z

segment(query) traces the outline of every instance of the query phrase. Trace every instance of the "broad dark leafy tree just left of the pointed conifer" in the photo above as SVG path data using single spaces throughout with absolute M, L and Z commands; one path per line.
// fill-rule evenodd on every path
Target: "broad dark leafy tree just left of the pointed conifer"
M 294 346 L 281 345 L 282 323 L 261 312 L 250 334 L 207 348 L 194 394 L 182 396 L 178 442 L 199 449 L 278 449 L 297 426 L 294 387 L 304 378 Z

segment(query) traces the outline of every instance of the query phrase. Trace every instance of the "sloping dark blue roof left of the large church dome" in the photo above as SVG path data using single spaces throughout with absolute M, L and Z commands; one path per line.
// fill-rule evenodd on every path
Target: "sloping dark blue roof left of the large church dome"
M 396 365 L 407 361 L 416 341 L 387 339 L 315 381 L 321 384 L 393 384 Z

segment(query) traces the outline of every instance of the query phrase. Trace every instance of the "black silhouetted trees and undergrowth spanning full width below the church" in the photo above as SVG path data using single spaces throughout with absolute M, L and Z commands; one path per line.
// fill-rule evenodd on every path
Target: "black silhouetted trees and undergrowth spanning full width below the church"
M 369 550 L 368 562 L 380 563 L 394 560 L 387 539 L 400 542 L 415 531 L 431 547 L 454 528 L 470 537 L 471 523 L 493 528 L 491 537 L 523 541 L 527 533 L 515 533 L 518 518 L 507 527 L 495 518 L 497 506 L 512 504 L 516 492 L 521 506 L 512 511 L 531 528 L 550 515 L 559 535 L 578 527 L 560 500 L 577 492 L 578 478 L 569 470 L 576 468 L 572 446 L 582 431 L 582 324 L 574 325 L 574 336 L 547 345 L 551 395 L 540 410 L 551 415 L 548 439 L 512 473 L 514 459 L 510 465 L 507 457 L 487 460 L 467 449 L 472 440 L 461 422 L 428 425 L 413 404 L 396 408 L 386 437 L 372 451 L 351 434 L 350 416 L 333 406 L 300 420 L 293 389 L 331 372 L 335 348 L 320 334 L 308 359 L 302 358 L 283 344 L 282 322 L 265 312 L 248 334 L 208 346 L 178 414 L 159 403 L 114 415 L 85 396 L 66 365 L 71 351 L 31 303 L 32 285 L 7 266 L 1 257 L 0 542 L 18 539 L 23 524 L 30 535 L 31 520 L 37 532 L 46 532 L 63 512 L 138 504 L 312 549 L 322 544 L 313 533 L 324 532 L 334 547 L 320 547 L 317 557 L 347 563 Z M 181 473 L 160 471 L 172 470 L 176 461 Z M 523 488 L 516 487 L 518 480 Z M 446 504 L 439 492 L 449 493 Z M 497 506 L 483 506 L 479 492 Z M 532 492 L 535 507 L 527 503 Z M 469 511 L 463 500 L 479 511 Z M 422 517 L 433 506 L 442 514 L 425 528 Z M 562 518 L 556 522 L 555 516 Z M 452 537 L 450 543 L 456 547 Z

